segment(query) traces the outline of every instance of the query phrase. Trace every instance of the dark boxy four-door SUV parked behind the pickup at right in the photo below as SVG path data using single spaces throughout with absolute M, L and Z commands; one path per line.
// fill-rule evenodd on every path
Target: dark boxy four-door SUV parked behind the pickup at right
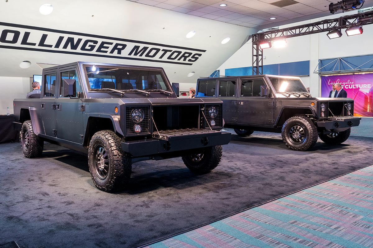
M 354 100 L 312 97 L 299 77 L 203 78 L 197 81 L 196 97 L 219 97 L 225 127 L 237 135 L 278 132 L 285 145 L 297 151 L 310 149 L 318 137 L 326 144 L 340 144 L 361 119 L 354 116 Z

